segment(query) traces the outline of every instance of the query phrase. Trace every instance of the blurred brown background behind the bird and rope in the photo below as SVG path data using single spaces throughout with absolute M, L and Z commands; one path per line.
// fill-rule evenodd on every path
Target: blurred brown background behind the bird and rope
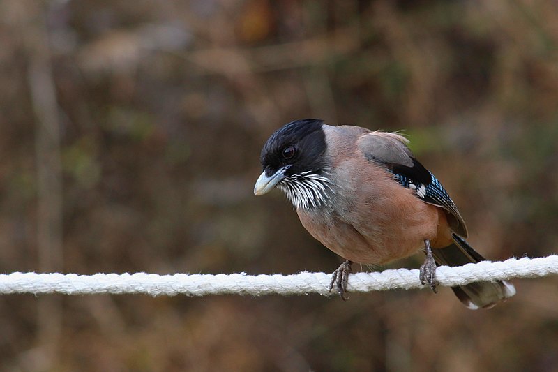
M 555 1 L 1 1 L 0 271 L 333 271 L 284 195 L 252 195 L 306 117 L 404 130 L 481 253 L 553 253 L 557 47 Z M 558 371 L 557 279 L 515 285 L 490 311 L 4 295 L 0 371 Z

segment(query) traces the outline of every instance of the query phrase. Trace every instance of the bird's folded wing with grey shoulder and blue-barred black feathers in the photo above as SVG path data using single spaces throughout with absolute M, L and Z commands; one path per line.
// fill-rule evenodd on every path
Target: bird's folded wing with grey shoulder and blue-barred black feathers
M 413 189 L 423 202 L 445 209 L 453 231 L 467 237 L 467 227 L 455 203 L 434 174 L 414 158 L 408 142 L 397 133 L 375 131 L 362 135 L 357 143 L 365 158 L 384 165 L 399 184 Z

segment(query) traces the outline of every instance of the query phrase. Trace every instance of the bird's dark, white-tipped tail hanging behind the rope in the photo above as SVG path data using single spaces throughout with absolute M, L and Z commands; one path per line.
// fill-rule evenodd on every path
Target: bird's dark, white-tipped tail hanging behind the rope
M 480 253 L 462 237 L 453 234 L 453 244 L 441 249 L 432 249 L 438 265 L 462 266 L 469 262 L 484 261 Z M 515 295 L 515 287 L 508 281 L 483 281 L 451 288 L 468 308 L 491 308 L 497 302 Z

